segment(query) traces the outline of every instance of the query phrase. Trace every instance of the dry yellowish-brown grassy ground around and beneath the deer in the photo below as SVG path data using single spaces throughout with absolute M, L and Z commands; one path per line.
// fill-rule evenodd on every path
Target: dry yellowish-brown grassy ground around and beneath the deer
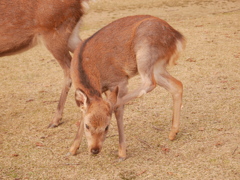
M 91 2 L 80 35 L 135 14 L 160 17 L 187 38 L 178 65 L 169 69 L 184 84 L 177 139 L 167 139 L 171 96 L 156 88 L 126 106 L 125 161 L 117 161 L 115 119 L 101 154 L 89 155 L 84 139 L 77 156 L 66 156 L 81 115 L 72 89 L 64 123 L 46 128 L 63 75 L 37 46 L 0 59 L 0 179 L 240 179 L 240 1 L 98 0 Z

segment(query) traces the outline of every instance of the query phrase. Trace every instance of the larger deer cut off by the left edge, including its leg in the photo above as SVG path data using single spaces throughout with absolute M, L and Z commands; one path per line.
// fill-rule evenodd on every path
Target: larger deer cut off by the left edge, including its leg
M 87 0 L 1 0 L 0 57 L 25 51 L 41 38 L 64 72 L 64 86 L 49 127 L 58 126 L 71 87 L 71 55 L 81 42 L 80 19 Z

